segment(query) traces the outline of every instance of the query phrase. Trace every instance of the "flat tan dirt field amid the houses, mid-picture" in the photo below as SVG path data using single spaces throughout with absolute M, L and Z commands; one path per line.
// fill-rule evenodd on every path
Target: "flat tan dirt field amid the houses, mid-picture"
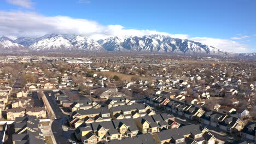
M 115 72 L 115 71 L 106 71 L 106 72 L 101 72 L 101 71 L 94 71 L 94 73 L 96 74 L 102 74 L 103 76 L 106 76 L 106 77 L 113 77 L 114 75 L 117 75 L 119 77 L 120 80 L 127 80 L 127 81 L 131 81 L 131 78 L 135 75 L 126 75 L 126 74 L 121 74 L 121 73 L 118 73 L 118 72 Z M 143 77 L 143 76 L 138 76 L 139 79 L 141 80 L 148 80 L 148 81 L 152 81 L 153 78 L 150 77 L 150 76 L 146 76 L 146 77 Z

